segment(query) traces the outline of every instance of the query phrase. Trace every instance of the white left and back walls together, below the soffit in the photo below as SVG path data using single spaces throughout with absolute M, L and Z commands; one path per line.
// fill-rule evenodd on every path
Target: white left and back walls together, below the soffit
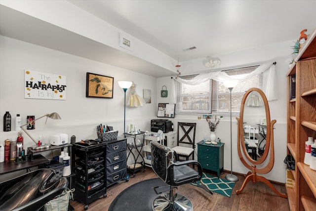
M 291 42 L 288 45 L 282 43 L 269 48 L 247 50 L 243 54 L 244 64 L 260 63 L 274 59 L 276 64 L 276 77 L 278 81 L 279 99 L 269 102 L 271 119 L 276 119 L 275 125 L 275 166 L 267 174 L 267 178 L 279 182 L 285 182 L 285 171 L 283 160 L 286 155 L 286 73 L 288 70 L 288 56 Z M 30 131 L 38 138 L 40 135 L 49 137 L 59 132 L 77 136 L 77 141 L 81 139 L 96 138 L 95 127 L 100 123 L 106 123 L 119 130 L 123 130 L 123 90 L 119 88 L 117 82 L 120 80 L 134 81 L 137 84 L 137 93 L 142 96 L 143 88 L 152 90 L 152 103 L 146 104 L 141 108 L 126 108 L 126 124 L 133 123 L 143 130 L 150 130 L 150 120 L 155 119 L 158 103 L 168 103 L 171 96 L 170 77 L 153 78 L 146 75 L 131 72 L 129 70 L 117 68 L 107 64 L 91 61 L 70 54 L 40 47 L 26 42 L 13 40 L 0 36 L 0 114 L 4 115 L 9 111 L 12 115 L 12 128 L 14 128 L 14 117 L 16 114 L 22 116 L 22 124 L 26 123 L 27 115 L 40 117 L 46 113 L 57 112 L 62 120 L 48 120 L 44 125 L 44 119 L 39 120 L 36 129 Z M 283 51 L 280 51 L 283 49 Z M 274 53 L 277 52 L 277 53 Z M 281 52 L 281 53 L 280 53 Z M 288 53 L 286 53 L 288 52 Z M 281 56 L 281 54 L 283 56 Z M 251 56 L 249 61 L 247 55 Z M 255 55 L 258 55 L 257 57 Z M 262 55 L 269 55 L 263 57 Z M 230 58 L 230 64 L 234 64 L 234 57 L 223 55 L 222 58 Z M 202 71 L 196 68 L 196 61 L 190 66 L 192 72 Z M 238 57 L 236 64 L 242 64 L 242 58 Z M 232 65 L 232 66 L 238 66 Z M 184 66 L 184 65 L 183 65 Z M 223 64 L 225 66 L 225 63 Z M 43 100 L 43 99 L 24 99 L 24 70 L 34 70 L 44 73 L 60 74 L 67 77 L 67 99 Z M 185 68 L 183 68 L 185 69 Z M 85 97 L 85 74 L 86 72 L 114 77 L 114 98 L 95 99 Z M 187 71 L 187 74 L 188 75 Z M 182 74 L 185 75 L 185 74 Z M 168 89 L 168 97 L 160 97 L 162 85 Z M 127 91 L 127 95 L 129 91 Z M 209 134 L 205 120 L 197 120 L 200 115 L 176 115 L 171 119 L 175 130 L 179 121 L 197 122 L 197 142 L 202 140 L 203 133 Z M 1 123 L 3 116 L 1 116 Z M 6 138 L 15 140 L 17 131 L 3 132 L 0 128 L 0 141 L 3 143 Z M 224 169 L 230 170 L 230 122 L 229 116 L 221 121 L 216 135 L 225 143 L 224 147 Z M 24 135 L 25 147 L 33 145 L 30 138 Z M 196 156 L 197 157 L 197 156 Z M 237 124 L 233 117 L 233 171 L 246 173 L 245 169 L 237 156 Z M 1 178 L 0 178 L 1 180 Z

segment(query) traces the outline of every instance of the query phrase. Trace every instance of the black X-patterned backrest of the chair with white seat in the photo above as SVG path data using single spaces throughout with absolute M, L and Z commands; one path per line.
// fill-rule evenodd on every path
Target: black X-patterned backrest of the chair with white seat
M 195 148 L 196 127 L 197 123 L 178 123 L 178 146 L 181 146 L 181 144 L 188 144 L 191 145 L 193 149 Z

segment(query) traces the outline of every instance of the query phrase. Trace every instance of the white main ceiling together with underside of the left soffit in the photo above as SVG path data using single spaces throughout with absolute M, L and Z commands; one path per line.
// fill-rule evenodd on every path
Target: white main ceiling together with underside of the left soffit
M 316 27 L 316 0 L 65 2 L 103 19 L 175 61 L 179 58 L 180 64 L 293 41 L 299 38 L 303 29 L 308 29 L 309 34 Z M 157 78 L 175 75 L 174 64 L 170 64 L 171 68 L 161 67 L 1 4 L 0 35 Z M 197 48 L 183 51 L 193 46 Z

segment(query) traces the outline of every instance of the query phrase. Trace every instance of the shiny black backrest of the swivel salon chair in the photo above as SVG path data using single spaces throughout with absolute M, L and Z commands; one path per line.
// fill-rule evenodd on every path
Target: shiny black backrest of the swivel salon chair
M 168 168 L 173 164 L 173 150 L 159 144 L 157 141 L 151 142 L 152 169 L 164 182 L 168 183 Z

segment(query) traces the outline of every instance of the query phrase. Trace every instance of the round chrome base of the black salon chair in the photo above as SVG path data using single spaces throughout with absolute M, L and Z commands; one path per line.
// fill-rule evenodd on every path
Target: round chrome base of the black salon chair
M 178 193 L 175 195 L 174 202 L 169 201 L 169 193 L 159 195 L 152 207 L 153 211 L 193 211 L 191 201 Z

